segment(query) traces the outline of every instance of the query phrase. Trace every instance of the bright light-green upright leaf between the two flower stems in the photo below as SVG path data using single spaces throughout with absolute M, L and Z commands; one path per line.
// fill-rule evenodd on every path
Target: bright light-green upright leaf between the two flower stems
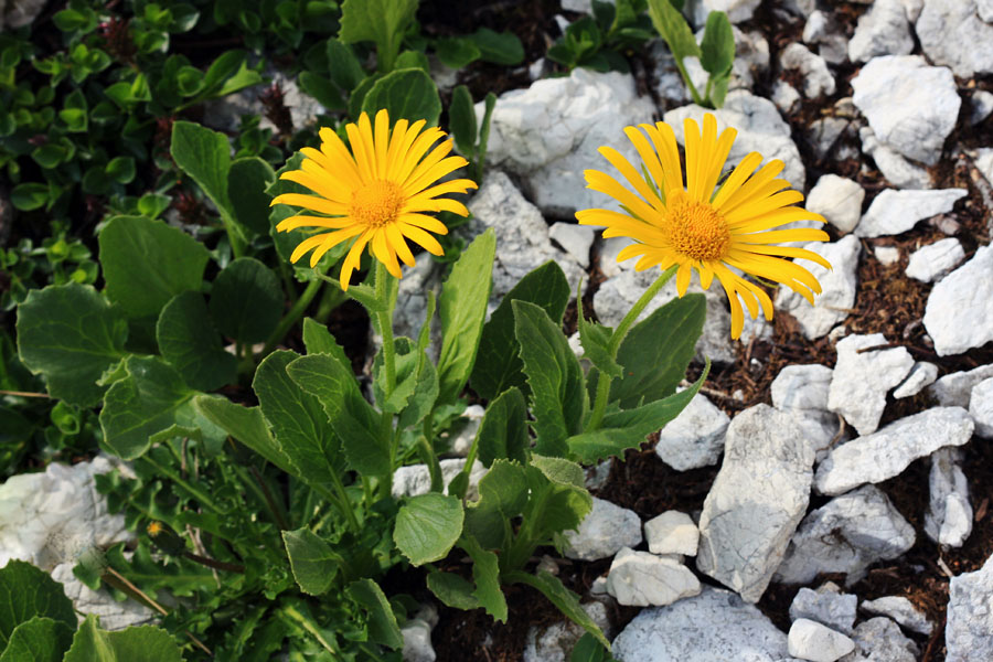
M 441 318 L 438 401 L 442 404 L 455 402 L 459 396 L 476 362 L 493 284 L 495 250 L 496 235 L 489 228 L 462 252 L 441 288 L 438 301 Z

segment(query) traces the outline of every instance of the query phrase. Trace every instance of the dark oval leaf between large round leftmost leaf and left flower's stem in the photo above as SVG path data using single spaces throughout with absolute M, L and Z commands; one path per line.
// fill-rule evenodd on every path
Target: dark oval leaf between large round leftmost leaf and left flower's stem
M 221 334 L 200 292 L 182 292 L 166 305 L 156 342 L 162 357 L 197 391 L 213 391 L 237 377 L 237 360 L 221 346 Z

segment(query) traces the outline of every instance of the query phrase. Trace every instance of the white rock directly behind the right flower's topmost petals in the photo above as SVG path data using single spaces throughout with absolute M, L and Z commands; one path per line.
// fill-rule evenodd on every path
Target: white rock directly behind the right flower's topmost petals
M 696 105 L 683 106 L 665 113 L 664 119 L 682 143 L 683 120 L 693 118 L 700 126 L 706 113 L 712 113 L 717 118 L 718 132 L 725 127 L 734 127 L 738 131 L 728 154 L 728 167 L 736 166 L 749 152 L 757 151 L 765 157 L 767 163 L 772 159 L 786 163 L 780 177 L 796 189 L 803 190 L 807 171 L 800 150 L 791 137 L 790 125 L 783 121 L 772 102 L 748 90 L 736 89 L 727 94 L 723 108 L 711 110 Z

